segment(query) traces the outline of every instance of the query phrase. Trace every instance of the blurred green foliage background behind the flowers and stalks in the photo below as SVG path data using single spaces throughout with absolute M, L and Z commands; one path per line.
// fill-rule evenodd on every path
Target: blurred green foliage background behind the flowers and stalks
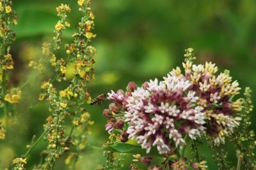
M 20 0 L 13 1 L 19 16 L 19 25 L 14 29 L 17 40 L 12 45 L 15 71 L 11 81 L 14 86 L 28 80 L 22 101 L 17 106 L 21 124 L 17 125 L 6 141 L 0 143 L 0 169 L 15 155 L 26 152 L 26 145 L 34 134 L 42 132 L 45 118 L 49 116 L 47 104 L 37 104 L 42 78 L 47 80 L 54 73 L 49 70 L 45 75 L 34 73 L 28 68 L 28 61 L 41 57 L 41 44 L 51 39 L 56 17 L 56 6 L 70 4 L 72 12 L 68 17 L 71 29 L 64 34 L 65 41 L 72 41 L 81 17 L 77 1 L 61 0 Z M 92 45 L 97 48 L 95 58 L 95 80 L 88 90 L 97 96 L 109 90 L 124 89 L 129 81 L 138 85 L 152 78 L 165 76 L 173 67 L 182 66 L 184 49 L 195 49 L 196 62 L 215 62 L 220 71 L 229 69 L 241 87 L 251 87 L 253 103 L 256 87 L 256 1 L 179 1 L 179 0 L 92 0 L 95 14 L 95 33 L 97 38 Z M 60 53 L 63 55 L 64 53 Z M 68 83 L 68 81 L 67 81 Z M 67 83 L 56 83 L 64 88 Z M 62 87 L 61 87 L 62 85 Z M 243 93 L 242 93 L 243 94 Z M 88 143 L 100 146 L 108 134 L 104 131 L 105 118 L 102 106 L 88 106 L 95 121 Z M 253 120 L 256 116 L 253 115 Z M 255 121 L 252 121 L 255 123 Z M 255 129 L 255 125 L 253 125 Z M 40 142 L 29 158 L 31 169 L 40 160 L 40 151 L 46 146 Z M 236 164 L 234 148 L 230 148 L 228 159 Z M 200 150 L 207 156 L 210 169 L 217 169 L 211 157 L 211 150 L 204 145 Z M 58 160 L 56 169 L 64 169 L 63 159 Z M 235 160 L 235 161 L 234 161 Z M 91 151 L 83 155 L 77 169 L 95 169 L 102 164 L 102 152 Z M 231 163 L 232 164 L 232 163 Z

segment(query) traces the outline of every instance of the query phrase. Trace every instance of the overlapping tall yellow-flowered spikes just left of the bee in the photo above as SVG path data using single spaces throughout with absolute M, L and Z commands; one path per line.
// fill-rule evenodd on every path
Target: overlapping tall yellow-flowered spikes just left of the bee
M 89 43 L 95 38 L 93 34 L 94 15 L 90 8 L 90 1 L 77 1 L 79 11 L 83 17 L 78 24 L 77 32 L 72 34 L 74 41 L 70 44 L 62 45 L 62 32 L 70 27 L 67 22 L 67 15 L 71 9 L 67 4 L 61 4 L 56 8 L 60 20 L 55 25 L 55 36 L 52 42 L 45 42 L 42 46 L 44 59 L 33 60 L 29 62 L 29 66 L 39 71 L 44 70 L 44 65 L 49 63 L 56 74 L 48 81 L 44 81 L 41 85 L 42 92 L 38 100 L 47 101 L 49 103 L 49 111 L 51 116 L 46 120 L 44 132 L 31 145 L 29 150 L 21 158 L 15 160 L 24 160 L 23 162 L 13 162 L 14 169 L 24 169 L 27 157 L 31 153 L 32 148 L 40 141 L 45 139 L 48 145 L 41 153 L 41 162 L 34 169 L 54 169 L 56 161 L 65 152 L 70 152 L 65 163 L 70 169 L 74 169 L 81 153 L 84 152 L 86 146 L 86 138 L 88 136 L 88 127 L 93 124 L 90 120 L 90 114 L 86 111 L 86 104 L 90 103 L 91 97 L 87 91 L 87 84 L 94 78 L 93 59 L 96 50 Z M 67 57 L 65 59 L 56 55 L 61 46 L 65 48 Z M 73 64 L 74 75 L 67 88 L 57 91 L 54 88 L 54 81 L 65 81 L 65 73 L 67 64 Z M 66 128 L 65 121 L 72 120 L 71 129 Z

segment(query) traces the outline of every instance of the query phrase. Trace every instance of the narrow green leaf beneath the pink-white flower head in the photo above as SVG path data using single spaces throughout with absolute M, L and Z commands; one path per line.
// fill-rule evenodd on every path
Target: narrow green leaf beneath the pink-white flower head
M 131 154 L 140 154 L 142 156 L 147 157 L 163 157 L 160 155 L 156 148 L 152 148 L 150 153 L 146 153 L 145 149 L 142 149 L 141 146 L 131 145 L 129 143 L 115 143 L 114 145 L 109 145 L 106 147 L 99 148 L 97 146 L 92 146 L 92 148 L 110 152 L 118 152 L 118 153 L 131 153 Z

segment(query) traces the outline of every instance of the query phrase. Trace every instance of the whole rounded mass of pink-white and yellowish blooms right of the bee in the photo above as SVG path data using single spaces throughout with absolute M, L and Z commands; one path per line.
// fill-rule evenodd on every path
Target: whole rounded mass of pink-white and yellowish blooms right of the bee
M 177 67 L 162 81 L 150 80 L 142 87 L 130 82 L 126 92 L 112 90 L 108 99 L 113 103 L 104 115 L 122 112 L 124 117 L 108 117 L 106 130 L 120 129 L 118 124 L 123 127 L 127 122 L 121 141 L 135 139 L 147 152 L 156 146 L 161 154 L 186 145 L 186 135 L 196 139 L 207 132 L 215 145 L 224 143 L 241 120 L 234 114 L 241 111 L 243 99 L 233 102 L 231 98 L 239 93 L 239 84 L 232 82 L 228 71 L 215 75 L 218 68 L 211 62 L 187 61 L 183 67 L 185 74 Z

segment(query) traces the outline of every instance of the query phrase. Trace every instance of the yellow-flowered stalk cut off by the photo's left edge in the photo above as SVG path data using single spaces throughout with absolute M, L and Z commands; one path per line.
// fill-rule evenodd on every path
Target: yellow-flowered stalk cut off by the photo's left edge
M 10 104 L 18 103 L 20 98 L 19 90 L 13 89 L 12 93 L 10 93 L 7 88 L 8 76 L 10 75 L 10 71 L 13 70 L 14 65 L 12 55 L 10 54 L 10 45 L 15 40 L 15 32 L 12 31 L 11 25 L 17 25 L 17 14 L 12 9 L 12 4 L 12 1 L 0 1 L 1 107 L 3 107 L 4 127 L 6 129 L 8 128 L 11 114 Z

